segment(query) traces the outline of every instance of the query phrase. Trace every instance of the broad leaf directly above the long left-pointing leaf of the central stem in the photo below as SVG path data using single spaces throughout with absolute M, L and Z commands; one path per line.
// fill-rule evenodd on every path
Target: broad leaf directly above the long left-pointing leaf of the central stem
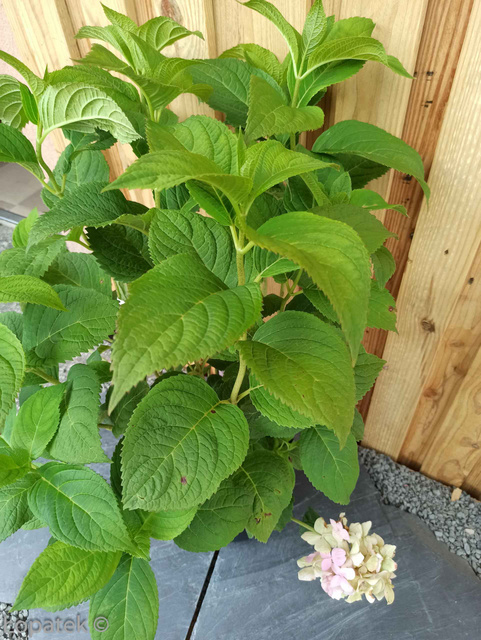
M 151 151 L 190 151 L 209 158 L 224 173 L 237 173 L 237 138 L 219 120 L 191 116 L 170 127 L 148 122 L 146 131 Z

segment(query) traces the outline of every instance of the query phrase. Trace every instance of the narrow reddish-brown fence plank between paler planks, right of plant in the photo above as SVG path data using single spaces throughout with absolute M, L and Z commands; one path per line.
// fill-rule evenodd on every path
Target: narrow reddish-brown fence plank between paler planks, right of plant
M 454 74 L 466 34 L 472 8 L 471 0 L 430 0 L 416 61 L 416 81 L 411 85 L 411 94 L 404 121 L 402 139 L 417 149 L 424 161 L 426 176 L 429 176 L 434 151 L 448 102 Z M 396 298 L 408 258 L 411 238 L 423 200 L 421 187 L 409 176 L 393 173 L 388 202 L 404 204 L 409 218 L 395 211 L 385 213 L 384 223 L 398 235 L 390 238 L 386 246 L 396 261 L 396 273 L 388 288 Z M 368 351 L 382 355 L 387 333 L 369 329 L 364 337 Z M 365 415 L 371 394 L 362 404 Z

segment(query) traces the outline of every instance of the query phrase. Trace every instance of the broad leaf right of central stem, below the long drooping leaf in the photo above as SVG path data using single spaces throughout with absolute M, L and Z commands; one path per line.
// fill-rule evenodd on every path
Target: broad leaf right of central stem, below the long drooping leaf
M 259 327 L 251 341 L 240 342 L 239 350 L 275 398 L 314 423 L 327 424 L 345 441 L 354 377 L 336 329 L 307 313 L 286 311 Z

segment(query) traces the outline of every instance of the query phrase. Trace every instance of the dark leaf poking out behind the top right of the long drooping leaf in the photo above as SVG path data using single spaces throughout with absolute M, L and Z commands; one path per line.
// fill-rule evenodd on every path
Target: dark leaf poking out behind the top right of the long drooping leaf
M 379 249 L 387 238 L 396 237 L 396 234 L 386 229 L 376 216 L 362 207 L 356 207 L 352 204 L 337 204 L 330 207 L 315 207 L 311 211 L 331 220 L 344 222 L 352 227 L 359 234 L 370 254 Z

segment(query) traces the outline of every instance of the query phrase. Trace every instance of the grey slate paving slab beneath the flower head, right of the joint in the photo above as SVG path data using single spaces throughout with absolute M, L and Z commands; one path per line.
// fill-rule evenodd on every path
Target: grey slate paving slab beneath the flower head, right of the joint
M 481 582 L 414 516 L 387 507 L 364 470 L 351 504 L 340 508 L 306 481 L 294 514 L 311 506 L 323 517 L 372 520 L 396 544 L 394 604 L 346 604 L 318 582 L 300 582 L 296 560 L 309 553 L 295 525 L 269 544 L 239 540 L 223 549 L 209 584 L 195 640 L 474 640 L 481 629 Z

